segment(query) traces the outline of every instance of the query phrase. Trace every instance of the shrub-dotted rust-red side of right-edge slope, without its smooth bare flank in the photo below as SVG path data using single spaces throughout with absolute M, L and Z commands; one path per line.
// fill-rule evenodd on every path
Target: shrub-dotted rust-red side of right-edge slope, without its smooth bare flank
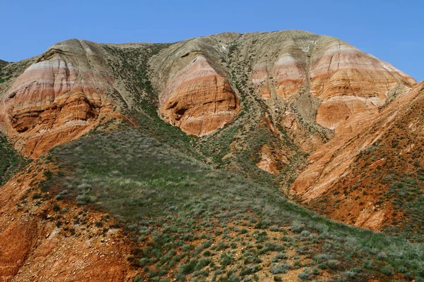
M 360 152 L 346 176 L 328 193 L 312 202 L 311 208 L 337 218 L 343 216 L 343 212 L 338 211 L 348 210 L 341 201 L 350 198 L 350 212 L 373 207 L 375 213 L 384 213 L 382 230 L 423 242 L 423 84 L 411 91 L 406 95 L 412 99 L 405 97 L 410 99 L 408 104 L 400 109 L 396 118 L 390 120 L 388 126 L 382 126 L 386 121 L 383 116 L 361 133 L 359 141 L 371 134 L 379 136 Z M 390 111 L 387 116 L 391 118 Z

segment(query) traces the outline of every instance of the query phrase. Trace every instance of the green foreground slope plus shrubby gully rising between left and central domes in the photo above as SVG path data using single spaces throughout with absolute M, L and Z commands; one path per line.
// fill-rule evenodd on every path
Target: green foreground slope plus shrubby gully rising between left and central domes
M 42 197 L 117 217 L 134 242 L 128 259 L 139 269 L 136 281 L 281 281 L 288 275 L 423 281 L 422 245 L 336 223 L 285 200 L 276 183 L 289 183 L 305 155 L 283 129 L 270 135 L 243 111 L 202 138 L 162 121 L 148 58 L 166 47 L 105 47 L 117 79 L 134 94 L 124 114 L 136 127 L 110 122 L 54 147 L 47 159 L 59 172 L 42 183 Z M 239 76 L 233 82 L 248 91 Z M 235 140 L 241 146 L 225 158 Z M 262 145 L 277 143 L 293 161 L 278 179 L 254 165 Z

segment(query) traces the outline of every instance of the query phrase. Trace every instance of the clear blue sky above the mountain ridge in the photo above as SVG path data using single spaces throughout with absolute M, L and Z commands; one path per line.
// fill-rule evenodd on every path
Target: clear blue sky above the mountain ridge
M 69 38 L 176 42 L 219 32 L 331 35 L 424 80 L 424 1 L 0 0 L 0 59 L 19 61 Z

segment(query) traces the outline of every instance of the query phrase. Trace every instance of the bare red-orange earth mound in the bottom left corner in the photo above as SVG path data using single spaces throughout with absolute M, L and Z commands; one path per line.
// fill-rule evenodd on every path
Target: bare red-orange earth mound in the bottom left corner
M 73 202 L 59 203 L 68 209 L 60 219 L 56 201 L 36 204 L 33 183 L 45 169 L 30 164 L 30 175 L 19 173 L 1 187 L 0 281 L 132 281 L 136 274 L 126 261 L 131 244 L 118 229 L 103 234 L 94 227 L 105 214 L 86 210 L 85 226 L 75 221 L 83 208 Z

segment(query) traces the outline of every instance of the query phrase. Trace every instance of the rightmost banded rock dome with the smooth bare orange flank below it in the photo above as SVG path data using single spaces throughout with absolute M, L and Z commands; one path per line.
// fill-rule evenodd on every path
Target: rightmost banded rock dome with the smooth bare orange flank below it
M 322 101 L 317 123 L 334 129 L 336 135 L 312 154 L 310 166 L 293 184 L 293 191 L 304 200 L 318 197 L 343 176 L 363 149 L 350 140 L 375 120 L 390 92 L 416 84 L 388 63 L 336 39 L 328 40 L 321 52 L 312 63 L 311 92 Z

